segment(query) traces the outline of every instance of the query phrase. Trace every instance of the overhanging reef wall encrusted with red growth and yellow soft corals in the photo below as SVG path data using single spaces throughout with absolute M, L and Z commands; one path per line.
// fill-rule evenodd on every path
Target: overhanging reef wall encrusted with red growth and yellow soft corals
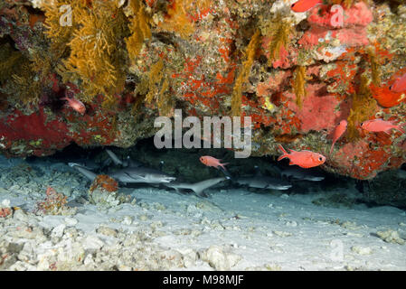
M 277 155 L 279 143 L 326 153 L 327 135 L 346 119 L 324 170 L 371 179 L 405 163 L 404 135 L 359 128 L 370 118 L 406 121 L 406 93 L 390 89 L 406 72 L 399 1 L 331 0 L 307 13 L 285 0 L 6 1 L 0 12 L 8 156 L 71 142 L 129 147 L 182 108 L 251 117 L 252 155 Z M 86 114 L 62 98 L 79 99 Z

